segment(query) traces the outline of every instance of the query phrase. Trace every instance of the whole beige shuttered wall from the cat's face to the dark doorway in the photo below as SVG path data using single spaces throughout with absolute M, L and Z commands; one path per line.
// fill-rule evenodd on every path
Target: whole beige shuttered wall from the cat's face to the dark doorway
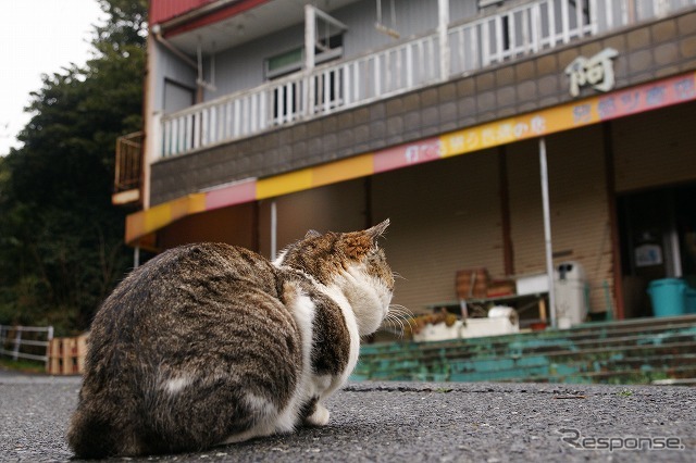
M 538 141 L 507 148 L 514 273 L 546 271 Z M 547 138 L 555 264 L 585 268 L 591 304 L 612 288 L 611 235 L 601 127 Z M 505 276 L 499 157 L 488 150 L 374 177 L 374 215 L 389 216 L 386 250 L 399 280 L 395 302 L 414 312 L 456 299 L 457 270 Z

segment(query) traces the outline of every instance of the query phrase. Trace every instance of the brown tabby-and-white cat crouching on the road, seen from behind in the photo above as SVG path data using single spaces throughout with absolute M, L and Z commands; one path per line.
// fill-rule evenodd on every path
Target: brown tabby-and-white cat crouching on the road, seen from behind
M 197 451 L 325 425 L 324 400 L 389 311 L 377 245 L 388 223 L 310 232 L 274 262 L 196 243 L 132 272 L 92 322 L 75 454 Z

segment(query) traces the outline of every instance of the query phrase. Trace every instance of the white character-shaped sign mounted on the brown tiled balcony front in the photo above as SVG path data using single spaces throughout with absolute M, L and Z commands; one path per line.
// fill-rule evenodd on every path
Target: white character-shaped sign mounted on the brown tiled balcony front
M 613 58 L 619 52 L 605 48 L 592 58 L 577 57 L 567 67 L 570 78 L 570 95 L 577 97 L 582 87 L 592 86 L 595 90 L 609 91 L 614 86 Z

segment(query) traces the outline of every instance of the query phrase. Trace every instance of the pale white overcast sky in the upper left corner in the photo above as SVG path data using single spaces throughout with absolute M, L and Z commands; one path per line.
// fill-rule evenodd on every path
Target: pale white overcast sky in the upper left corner
M 21 147 L 16 135 L 30 120 L 24 108 L 41 74 L 85 64 L 104 17 L 97 0 L 0 0 L 0 155 Z

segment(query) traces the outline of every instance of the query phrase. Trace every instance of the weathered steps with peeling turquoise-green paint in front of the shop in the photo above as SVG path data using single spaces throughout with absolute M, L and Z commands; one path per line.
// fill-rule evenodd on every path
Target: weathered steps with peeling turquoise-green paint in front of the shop
M 649 384 L 696 376 L 696 316 L 364 346 L 352 379 Z

